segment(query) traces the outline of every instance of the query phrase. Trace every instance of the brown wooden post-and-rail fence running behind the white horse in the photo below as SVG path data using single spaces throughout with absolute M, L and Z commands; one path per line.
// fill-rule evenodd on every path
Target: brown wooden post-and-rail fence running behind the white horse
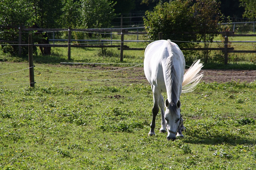
M 0 26 L 0 27 L 10 27 L 10 26 Z M 19 55 L 21 55 L 21 46 L 28 46 L 22 45 L 21 36 L 22 31 L 41 31 L 41 32 L 55 32 L 55 31 L 68 31 L 68 45 L 60 45 L 60 44 L 33 44 L 33 46 L 38 47 L 68 47 L 68 60 L 71 58 L 71 47 L 72 48 L 79 48 L 79 47 L 86 47 L 86 48 L 118 48 L 120 50 L 120 61 L 123 61 L 123 50 L 145 50 L 145 48 L 129 48 L 128 46 L 124 45 L 124 35 L 125 34 L 146 34 L 146 32 L 135 32 L 135 33 L 128 33 L 127 28 L 121 29 L 61 29 L 61 28 L 25 28 L 24 26 L 11 26 L 12 28 L 17 28 L 19 30 L 19 41 L 4 41 L 0 40 L 0 42 L 5 43 L 18 43 L 19 44 Z M 95 32 L 95 33 L 112 33 L 118 32 L 121 35 L 120 45 L 72 45 L 71 43 L 71 32 L 72 31 L 81 31 L 81 32 Z M 198 34 L 199 32 L 186 32 L 183 34 Z M 180 48 L 181 50 L 221 50 L 224 55 L 224 63 L 227 64 L 228 61 L 228 53 L 256 53 L 256 50 L 234 50 L 233 47 L 228 47 L 228 37 L 256 37 L 256 34 L 235 34 L 234 32 L 216 32 L 218 34 L 222 34 L 225 38 L 224 41 L 224 48 Z M 162 39 L 162 33 L 159 33 L 159 40 Z M 79 40 L 77 40 L 79 41 Z

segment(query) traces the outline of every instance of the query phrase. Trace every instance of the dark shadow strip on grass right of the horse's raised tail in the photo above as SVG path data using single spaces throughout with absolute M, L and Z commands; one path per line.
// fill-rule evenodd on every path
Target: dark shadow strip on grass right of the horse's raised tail
M 222 70 L 256 70 L 256 64 L 220 64 L 207 63 L 202 69 L 222 69 Z

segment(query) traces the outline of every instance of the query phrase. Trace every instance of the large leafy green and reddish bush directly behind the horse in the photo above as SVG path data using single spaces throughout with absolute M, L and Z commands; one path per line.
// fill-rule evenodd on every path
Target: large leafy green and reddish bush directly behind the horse
M 146 11 L 144 18 L 148 38 L 158 39 L 158 33 L 163 33 L 163 39 L 175 41 L 180 48 L 193 48 L 200 41 L 212 41 L 218 31 L 220 16 L 219 3 L 214 0 L 176 0 L 158 4 L 153 11 Z M 192 32 L 198 32 L 194 34 Z M 207 46 L 207 44 L 205 43 Z M 184 51 L 186 62 L 191 63 L 192 51 Z M 208 53 L 204 55 L 208 62 Z

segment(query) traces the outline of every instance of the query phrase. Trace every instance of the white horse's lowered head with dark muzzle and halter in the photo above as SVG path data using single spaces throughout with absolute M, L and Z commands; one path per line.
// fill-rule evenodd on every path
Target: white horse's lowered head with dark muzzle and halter
M 180 101 L 177 103 L 169 103 L 168 99 L 165 100 L 165 124 L 168 131 L 167 139 L 175 140 L 178 128 L 180 126 Z

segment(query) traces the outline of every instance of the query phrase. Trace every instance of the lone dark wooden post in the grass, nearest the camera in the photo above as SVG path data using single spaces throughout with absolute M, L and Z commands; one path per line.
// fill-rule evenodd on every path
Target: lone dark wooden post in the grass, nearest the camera
M 34 61 L 33 61 L 33 42 L 32 34 L 29 34 L 29 82 L 30 87 L 35 87 L 35 78 L 34 78 Z

